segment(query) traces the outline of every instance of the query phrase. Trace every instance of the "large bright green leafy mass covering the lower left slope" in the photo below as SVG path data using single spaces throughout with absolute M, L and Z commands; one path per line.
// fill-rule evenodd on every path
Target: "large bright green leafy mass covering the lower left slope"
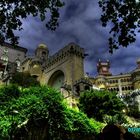
M 8 88 L 8 90 L 7 90 Z M 11 87 L 4 87 L 0 95 L 5 96 Z M 19 89 L 17 89 L 19 91 Z M 15 94 L 15 92 L 14 92 Z M 5 98 L 6 100 L 6 98 Z M 63 140 L 81 139 L 82 136 L 96 135 L 103 124 L 89 119 L 84 113 L 69 109 L 62 95 L 46 86 L 24 88 L 18 98 L 8 98 L 6 104 L 1 104 L 0 139 L 8 139 L 25 128 L 29 130 L 22 136 L 28 139 L 29 133 L 35 131 L 35 124 L 41 121 L 47 126 L 47 138 Z M 41 130 L 38 126 L 36 134 Z M 44 131 L 43 131 L 44 132 Z M 41 135 L 43 136 L 42 132 Z M 40 138 L 41 139 L 41 138 Z

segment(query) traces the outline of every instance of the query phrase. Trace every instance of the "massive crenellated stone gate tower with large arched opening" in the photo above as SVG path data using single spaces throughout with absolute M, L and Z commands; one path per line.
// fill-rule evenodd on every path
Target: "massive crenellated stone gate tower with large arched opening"
M 59 88 L 65 83 L 72 88 L 75 81 L 84 78 L 83 59 L 84 49 L 69 43 L 48 59 L 41 82 Z

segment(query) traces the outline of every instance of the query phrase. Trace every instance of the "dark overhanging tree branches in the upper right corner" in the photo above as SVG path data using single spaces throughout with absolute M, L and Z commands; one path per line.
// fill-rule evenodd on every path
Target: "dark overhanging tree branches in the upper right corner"
M 140 1 L 99 0 L 99 6 L 102 8 L 102 25 L 112 26 L 108 39 L 109 52 L 135 42 L 136 32 L 140 32 Z

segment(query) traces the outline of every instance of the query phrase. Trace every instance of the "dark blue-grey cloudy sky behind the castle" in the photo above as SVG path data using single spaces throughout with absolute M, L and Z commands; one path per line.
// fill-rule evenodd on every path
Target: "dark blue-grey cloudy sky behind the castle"
M 129 72 L 136 67 L 136 60 L 140 57 L 140 35 L 137 41 L 128 48 L 116 50 L 109 54 L 109 27 L 101 26 L 101 11 L 98 0 L 63 0 L 65 6 L 61 9 L 60 26 L 55 32 L 48 31 L 45 23 L 38 18 L 29 17 L 23 22 L 20 45 L 29 49 L 29 54 L 40 43 L 47 44 L 50 54 L 54 54 L 69 42 L 75 42 L 89 54 L 85 58 L 85 72 L 95 76 L 98 59 L 110 60 L 113 74 Z

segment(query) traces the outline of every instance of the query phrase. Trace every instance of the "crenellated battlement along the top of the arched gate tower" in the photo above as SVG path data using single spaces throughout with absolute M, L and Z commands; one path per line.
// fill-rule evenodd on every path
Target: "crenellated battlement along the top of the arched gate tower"
M 80 48 L 80 46 L 75 43 L 69 43 L 63 49 L 59 50 L 57 53 L 49 57 L 46 63 L 46 67 L 48 68 L 51 65 L 54 65 L 55 63 L 71 55 L 76 55 L 78 57 L 84 58 L 84 49 Z

